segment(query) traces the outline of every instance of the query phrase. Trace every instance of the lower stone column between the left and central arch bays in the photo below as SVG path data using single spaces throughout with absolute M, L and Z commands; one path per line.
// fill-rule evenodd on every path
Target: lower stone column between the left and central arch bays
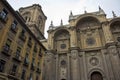
M 71 79 L 70 80 L 80 80 L 80 69 L 79 69 L 79 57 L 78 50 L 71 49 Z

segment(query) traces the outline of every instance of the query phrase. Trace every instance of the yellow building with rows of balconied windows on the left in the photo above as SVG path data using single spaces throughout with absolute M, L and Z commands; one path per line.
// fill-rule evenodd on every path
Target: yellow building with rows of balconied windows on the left
M 0 80 L 43 80 L 46 48 L 6 0 L 0 0 Z

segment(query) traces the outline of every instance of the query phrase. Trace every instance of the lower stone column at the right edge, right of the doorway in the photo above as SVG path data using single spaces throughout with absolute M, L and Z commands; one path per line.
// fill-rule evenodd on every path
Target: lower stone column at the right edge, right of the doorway
M 120 80 L 120 62 L 117 48 L 114 44 L 109 44 L 107 50 L 110 57 L 110 62 L 112 65 L 112 71 L 114 75 L 114 80 Z

